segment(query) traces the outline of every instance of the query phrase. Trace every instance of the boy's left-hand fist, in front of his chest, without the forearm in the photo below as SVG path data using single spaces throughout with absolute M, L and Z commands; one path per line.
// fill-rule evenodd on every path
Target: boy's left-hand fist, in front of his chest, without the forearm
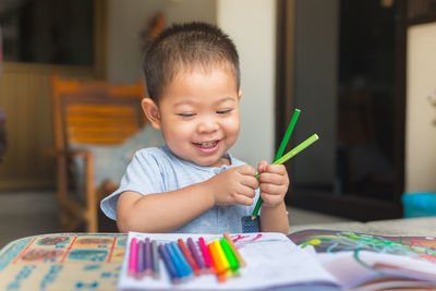
M 255 178 L 256 171 L 250 165 L 230 168 L 210 180 L 211 192 L 216 205 L 252 205 L 258 181 Z

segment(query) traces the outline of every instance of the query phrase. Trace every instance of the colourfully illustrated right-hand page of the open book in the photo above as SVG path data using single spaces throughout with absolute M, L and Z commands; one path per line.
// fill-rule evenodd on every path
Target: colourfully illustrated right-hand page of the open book
M 313 253 L 343 289 L 436 288 L 436 239 L 337 230 L 288 235 Z

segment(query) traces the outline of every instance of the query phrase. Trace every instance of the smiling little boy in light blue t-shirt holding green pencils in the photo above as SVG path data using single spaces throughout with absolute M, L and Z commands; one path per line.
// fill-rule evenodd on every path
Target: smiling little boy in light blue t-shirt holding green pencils
M 120 187 L 101 202 L 119 230 L 243 232 L 242 218 L 261 195 L 261 231 L 288 233 L 284 166 L 259 162 L 257 180 L 253 167 L 228 153 L 242 95 L 229 37 L 204 23 L 173 25 L 147 48 L 144 73 L 142 107 L 166 146 L 136 151 Z

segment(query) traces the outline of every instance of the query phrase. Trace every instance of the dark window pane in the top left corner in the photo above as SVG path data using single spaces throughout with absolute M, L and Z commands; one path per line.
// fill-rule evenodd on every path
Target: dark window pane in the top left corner
M 1 1 L 0 25 L 4 61 L 94 65 L 94 1 Z

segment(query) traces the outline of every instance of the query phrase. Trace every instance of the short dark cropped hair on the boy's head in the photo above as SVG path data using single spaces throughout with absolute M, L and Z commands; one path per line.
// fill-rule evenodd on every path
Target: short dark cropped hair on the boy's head
M 166 86 L 181 71 L 230 70 L 240 88 L 239 56 L 233 41 L 215 25 L 192 22 L 174 24 L 145 48 L 143 70 L 149 98 L 158 102 Z

